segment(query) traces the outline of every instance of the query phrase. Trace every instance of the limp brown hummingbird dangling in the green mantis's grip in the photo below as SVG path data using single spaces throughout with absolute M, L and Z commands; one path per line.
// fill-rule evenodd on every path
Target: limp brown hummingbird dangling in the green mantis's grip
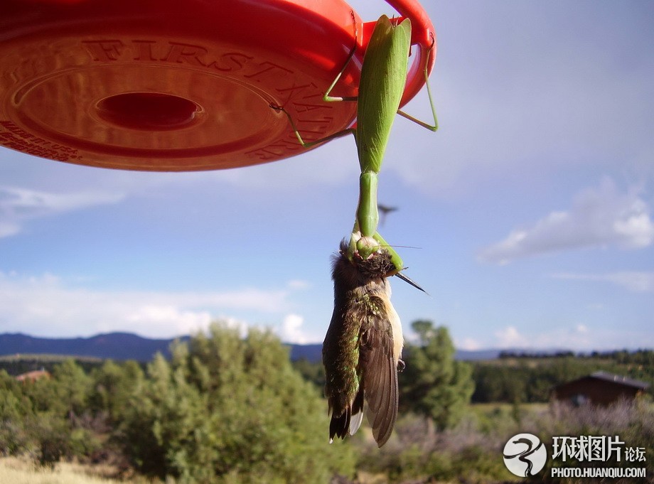
M 377 446 L 392 434 L 397 371 L 404 367 L 402 325 L 390 302 L 387 279 L 396 274 L 399 271 L 385 249 L 367 259 L 356 253 L 348 257 L 343 240 L 333 257 L 334 311 L 323 342 L 330 443 L 335 436 L 344 439 L 355 434 L 363 421 L 364 402 Z

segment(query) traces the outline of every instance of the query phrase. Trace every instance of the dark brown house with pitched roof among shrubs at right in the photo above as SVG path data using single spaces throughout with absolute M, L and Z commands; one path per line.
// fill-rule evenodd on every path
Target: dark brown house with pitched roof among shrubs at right
M 552 398 L 575 405 L 609 405 L 618 400 L 633 400 L 647 391 L 649 384 L 608 372 L 594 372 L 562 383 L 552 389 Z

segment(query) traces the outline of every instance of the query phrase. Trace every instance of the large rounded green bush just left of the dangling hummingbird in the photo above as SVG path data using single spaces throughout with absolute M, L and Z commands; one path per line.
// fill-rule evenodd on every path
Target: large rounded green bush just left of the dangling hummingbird
M 351 473 L 351 447 L 327 443 L 323 400 L 271 333 L 214 325 L 158 356 L 122 431 L 134 465 L 182 483 L 326 483 Z

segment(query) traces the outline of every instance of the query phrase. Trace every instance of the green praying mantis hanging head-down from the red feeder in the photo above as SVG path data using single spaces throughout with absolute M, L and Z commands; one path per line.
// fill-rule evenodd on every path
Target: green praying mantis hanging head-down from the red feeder
M 415 286 L 412 281 L 407 280 L 406 277 L 400 274 L 400 271 L 404 267 L 402 259 L 387 244 L 379 232 L 377 232 L 377 225 L 379 223 L 379 211 L 377 209 L 378 175 L 390 137 L 392 124 L 395 120 L 395 114 L 400 114 L 402 117 L 432 131 L 438 129 L 434 102 L 431 99 L 429 82 L 427 82 L 427 65 L 424 67 L 424 76 L 427 82 L 427 94 L 431 103 L 431 112 L 434 115 L 434 125 L 419 121 L 419 119 L 399 109 L 407 77 L 410 48 L 411 21 L 405 18 L 404 21 L 395 25 L 387 16 L 382 15 L 375 25 L 370 42 L 368 43 L 368 48 L 365 51 L 358 97 L 332 97 L 330 96 L 330 92 L 353 58 L 355 48 L 350 51 L 348 60 L 343 66 L 343 69 L 341 69 L 341 72 L 338 72 L 336 79 L 328 87 L 323 100 L 326 102 L 357 101 L 357 126 L 355 128 L 345 129 L 316 141 L 305 142 L 296 129 L 293 119 L 291 119 L 284 108 L 278 106 L 272 107 L 282 110 L 286 114 L 298 141 L 304 147 L 313 146 L 349 133 L 354 135 L 361 173 L 359 177 L 358 207 L 352 237 L 350 237 L 348 257 L 351 259 L 355 255 L 358 255 L 363 259 L 367 259 L 371 254 L 383 247 L 388 250 L 391 260 L 395 265 L 395 270 L 391 271 L 387 276 L 400 276 L 405 281 L 408 281 L 409 284 Z M 429 59 L 429 55 L 427 55 L 427 59 Z

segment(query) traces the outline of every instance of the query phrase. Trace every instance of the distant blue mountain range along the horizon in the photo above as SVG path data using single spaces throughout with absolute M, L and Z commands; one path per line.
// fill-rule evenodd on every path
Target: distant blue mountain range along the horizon
M 188 336 L 178 338 L 188 339 Z M 142 338 L 132 333 L 107 333 L 90 338 L 36 338 L 22 333 L 0 334 L 0 356 L 17 354 L 48 354 L 97 357 L 110 360 L 149 361 L 156 353 L 170 356 L 174 339 Z M 291 360 L 302 358 L 311 362 L 321 361 L 321 344 L 289 344 Z M 491 360 L 500 350 L 456 351 L 457 360 Z

